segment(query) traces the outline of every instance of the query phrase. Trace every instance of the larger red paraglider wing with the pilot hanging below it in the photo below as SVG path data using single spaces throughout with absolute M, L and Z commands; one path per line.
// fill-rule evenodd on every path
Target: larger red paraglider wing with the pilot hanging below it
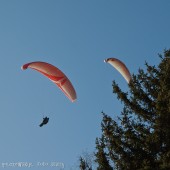
M 21 69 L 26 70 L 27 68 L 34 69 L 44 76 L 48 77 L 52 82 L 54 82 L 63 92 L 64 94 L 72 101 L 74 102 L 76 100 L 76 91 L 70 82 L 70 80 L 67 78 L 67 76 L 59 70 L 57 67 L 45 63 L 45 62 L 31 62 L 24 64 Z

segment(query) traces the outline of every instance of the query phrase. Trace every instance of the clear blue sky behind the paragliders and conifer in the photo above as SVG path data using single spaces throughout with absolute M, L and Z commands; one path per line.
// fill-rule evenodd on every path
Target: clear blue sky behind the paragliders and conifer
M 75 170 L 82 153 L 95 151 L 101 112 L 120 115 L 112 81 L 128 90 L 104 59 L 118 58 L 131 74 L 145 61 L 159 64 L 170 48 L 169 9 L 169 0 L 0 0 L 0 169 Z M 21 70 L 33 61 L 62 70 L 77 100 Z M 40 128 L 43 116 L 50 121 Z

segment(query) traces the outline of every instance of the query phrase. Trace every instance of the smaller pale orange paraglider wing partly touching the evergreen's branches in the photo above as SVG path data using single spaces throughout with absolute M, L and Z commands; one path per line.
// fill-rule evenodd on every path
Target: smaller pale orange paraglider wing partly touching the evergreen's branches
M 108 58 L 104 60 L 104 62 L 111 64 L 115 69 L 117 69 L 121 73 L 121 75 L 125 78 L 125 80 L 128 83 L 130 82 L 131 79 L 130 72 L 122 61 L 116 58 Z

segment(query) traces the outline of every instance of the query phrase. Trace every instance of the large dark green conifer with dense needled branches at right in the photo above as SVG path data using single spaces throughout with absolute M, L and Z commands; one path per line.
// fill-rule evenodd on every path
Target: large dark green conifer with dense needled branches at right
M 128 92 L 113 82 L 124 107 L 118 122 L 103 113 L 98 170 L 170 169 L 170 50 L 159 57 L 157 67 L 145 63 L 146 71 L 132 76 Z

